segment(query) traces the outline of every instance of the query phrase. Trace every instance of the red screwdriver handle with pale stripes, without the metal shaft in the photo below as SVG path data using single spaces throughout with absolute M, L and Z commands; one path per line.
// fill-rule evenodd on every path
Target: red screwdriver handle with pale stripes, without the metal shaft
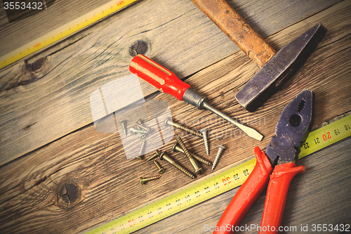
M 190 88 L 190 85 L 182 82 L 176 74 L 142 54 L 131 60 L 129 70 L 159 91 L 171 94 L 178 100 L 183 100 L 184 92 Z

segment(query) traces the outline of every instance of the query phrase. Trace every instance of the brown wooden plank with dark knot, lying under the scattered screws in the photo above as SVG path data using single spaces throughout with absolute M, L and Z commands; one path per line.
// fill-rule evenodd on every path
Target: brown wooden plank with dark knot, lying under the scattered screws
M 256 145 L 265 148 L 282 108 L 303 88 L 312 89 L 316 96 L 314 124 L 347 112 L 351 100 L 350 7 L 349 1 L 340 2 L 268 38 L 280 48 L 291 41 L 293 35 L 317 22 L 322 22 L 329 30 L 305 67 L 255 113 L 248 113 L 234 103 L 234 93 L 239 86 L 258 70 L 243 53 L 234 53 L 187 79 L 220 110 L 258 129 L 265 136 L 262 142 L 242 134 L 239 137 L 240 131 L 214 115 L 182 104 L 166 94 L 160 94 L 157 99 L 168 101 L 176 121 L 186 122 L 194 129 L 210 127 L 211 160 L 218 143 L 227 147 L 216 171 L 252 156 Z M 232 71 L 233 65 L 237 68 Z M 170 152 L 174 142 L 161 150 Z M 205 155 L 201 139 L 185 138 L 185 143 L 191 145 L 194 152 Z M 170 155 L 190 168 L 182 155 Z M 169 164 L 163 165 L 166 174 L 157 183 L 141 187 L 138 178 L 156 174 L 154 165 L 126 160 L 119 134 L 102 134 L 89 124 L 1 169 L 0 232 L 77 233 L 194 182 Z M 198 178 L 205 178 L 210 171 L 209 167 L 204 167 L 204 174 Z M 61 197 L 60 190 L 65 183 L 79 188 L 78 199 L 72 204 L 66 204 Z

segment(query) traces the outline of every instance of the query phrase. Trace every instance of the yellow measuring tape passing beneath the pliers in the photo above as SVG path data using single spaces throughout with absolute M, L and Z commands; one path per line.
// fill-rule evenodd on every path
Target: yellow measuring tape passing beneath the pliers
M 343 117 L 332 124 L 312 131 L 300 148 L 299 159 L 321 150 L 351 136 L 351 115 Z M 204 202 L 211 197 L 225 193 L 227 190 L 241 186 L 255 167 L 256 158 L 207 178 L 190 188 L 174 193 L 168 197 L 131 212 L 119 219 L 106 223 L 88 233 L 131 233 L 148 226 L 172 214 Z

